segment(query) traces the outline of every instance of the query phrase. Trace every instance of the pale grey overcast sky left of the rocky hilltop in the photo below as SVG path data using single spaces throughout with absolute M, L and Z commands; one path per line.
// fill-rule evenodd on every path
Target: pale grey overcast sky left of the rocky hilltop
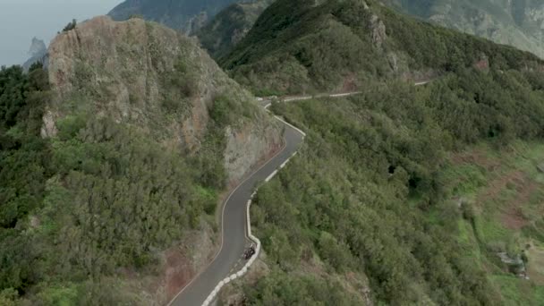
M 123 0 L 0 0 L 0 65 L 22 64 L 33 37 L 48 45 L 72 21 L 108 13 Z

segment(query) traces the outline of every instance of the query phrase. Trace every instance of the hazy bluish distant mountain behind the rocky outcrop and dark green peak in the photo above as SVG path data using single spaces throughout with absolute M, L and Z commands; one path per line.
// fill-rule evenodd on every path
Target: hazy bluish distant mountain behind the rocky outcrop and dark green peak
M 117 5 L 108 15 L 123 21 L 132 15 L 141 15 L 148 21 L 157 21 L 166 26 L 190 34 L 199 30 L 206 22 L 236 0 L 126 0 Z

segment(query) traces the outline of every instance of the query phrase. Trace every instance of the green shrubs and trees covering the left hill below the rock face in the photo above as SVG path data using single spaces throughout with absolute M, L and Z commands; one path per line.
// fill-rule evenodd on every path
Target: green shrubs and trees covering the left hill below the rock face
M 90 109 L 42 139 L 48 99 L 40 67 L 0 72 L 0 303 L 135 302 L 119 268 L 153 275 L 160 251 L 213 222 L 230 110 L 186 154 Z

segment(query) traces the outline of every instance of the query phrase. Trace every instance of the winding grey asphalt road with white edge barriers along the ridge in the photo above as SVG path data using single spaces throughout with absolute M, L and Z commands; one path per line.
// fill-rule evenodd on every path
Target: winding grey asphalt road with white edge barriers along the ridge
M 416 83 L 424 85 L 427 82 Z M 310 98 L 341 98 L 357 95 L 360 92 L 348 92 L 341 94 L 322 94 L 317 96 L 303 96 L 281 98 L 284 102 L 307 100 Z M 260 102 L 262 106 L 268 106 L 269 101 Z M 299 149 L 304 136 L 289 124 L 279 120 L 285 127 L 284 140 L 285 147 L 268 160 L 267 164 L 261 166 L 256 172 L 251 174 L 243 181 L 227 198 L 223 207 L 222 214 L 222 242 L 221 248 L 215 259 L 198 276 L 193 278 L 189 285 L 178 293 L 170 306 L 200 306 L 208 298 L 216 285 L 222 281 L 225 276 L 233 274 L 233 269 L 242 259 L 242 253 L 249 242 L 247 235 L 247 209 L 248 200 L 251 200 L 251 194 L 259 183 L 264 182 L 270 174 L 273 174 L 282 164 L 285 163 Z

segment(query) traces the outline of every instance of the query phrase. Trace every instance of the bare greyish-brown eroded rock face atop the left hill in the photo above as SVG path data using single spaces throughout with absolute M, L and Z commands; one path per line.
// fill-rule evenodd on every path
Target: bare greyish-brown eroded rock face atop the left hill
M 227 96 L 253 112 L 227 129 L 229 181 L 241 179 L 281 143 L 277 124 L 251 95 L 193 38 L 174 30 L 141 19 L 97 17 L 59 34 L 48 53 L 55 98 L 44 115 L 44 137 L 55 136 L 55 123 L 65 115 L 91 112 L 130 124 L 168 148 L 197 152 L 208 131 L 209 107 Z

